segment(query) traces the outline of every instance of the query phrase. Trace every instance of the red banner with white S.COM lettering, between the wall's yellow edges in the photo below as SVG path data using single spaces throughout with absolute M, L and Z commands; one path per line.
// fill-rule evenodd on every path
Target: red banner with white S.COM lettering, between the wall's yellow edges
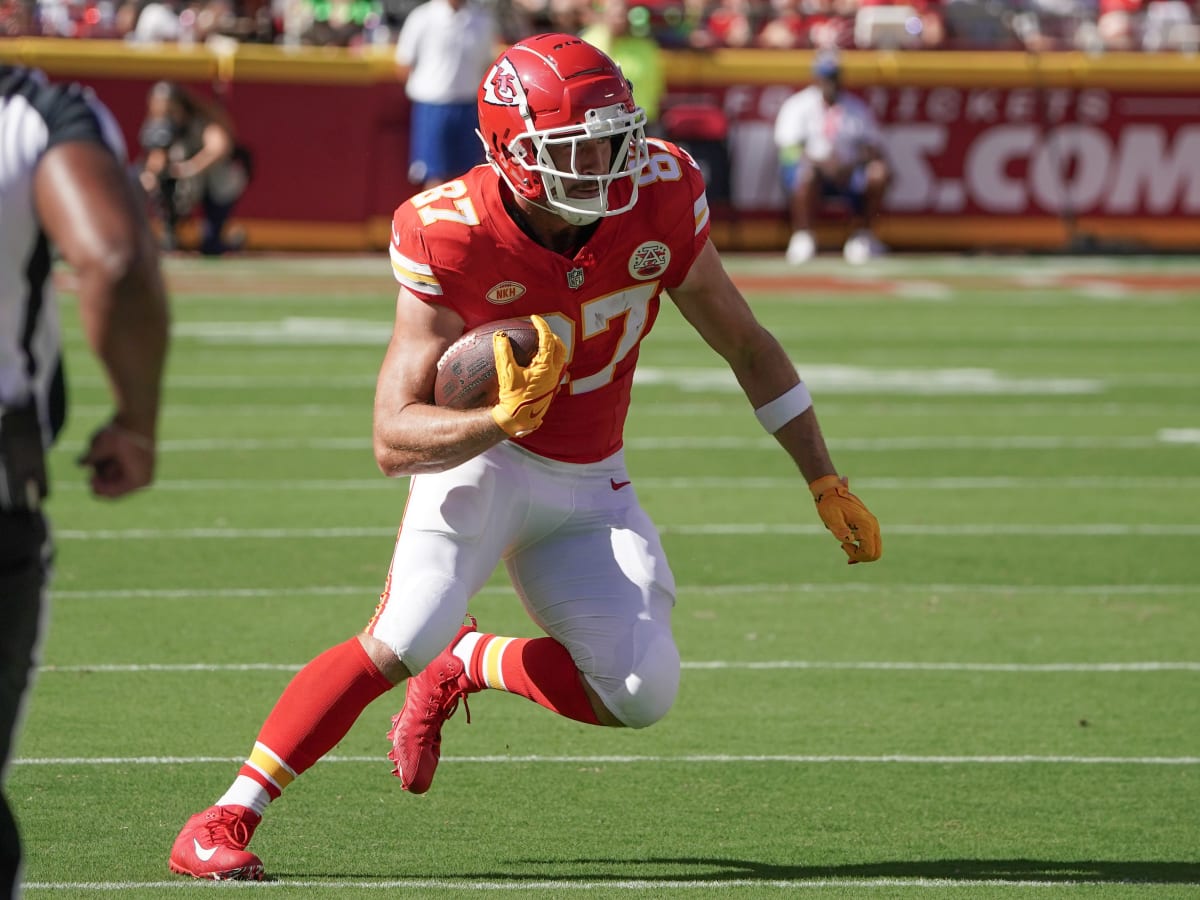
M 794 90 L 742 85 L 703 95 L 731 120 L 733 198 L 744 210 L 782 208 L 772 130 Z M 890 211 L 1200 215 L 1200 91 L 876 85 L 856 92 L 887 138 Z

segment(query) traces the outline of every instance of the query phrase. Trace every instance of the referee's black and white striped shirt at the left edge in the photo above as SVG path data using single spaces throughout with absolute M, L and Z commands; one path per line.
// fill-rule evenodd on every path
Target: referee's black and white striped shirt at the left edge
M 113 115 L 90 90 L 0 65 L 0 408 L 32 398 L 47 446 L 66 418 L 66 389 L 52 248 L 34 204 L 34 173 L 47 150 L 72 140 L 96 142 L 126 158 Z

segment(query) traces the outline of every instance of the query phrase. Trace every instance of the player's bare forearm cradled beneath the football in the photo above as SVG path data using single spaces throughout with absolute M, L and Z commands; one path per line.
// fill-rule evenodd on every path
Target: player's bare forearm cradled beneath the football
M 440 409 L 410 403 L 376 410 L 376 464 L 388 478 L 445 472 L 508 439 L 490 409 Z

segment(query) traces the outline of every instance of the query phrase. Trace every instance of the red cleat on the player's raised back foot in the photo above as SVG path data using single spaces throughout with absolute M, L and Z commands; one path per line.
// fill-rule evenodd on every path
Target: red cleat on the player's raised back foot
M 433 782 L 433 773 L 442 758 L 442 725 L 454 715 L 462 700 L 470 722 L 467 695 L 480 690 L 467 680 L 466 666 L 451 652 L 463 635 L 475 630 L 475 618 L 468 616 L 469 625 L 458 629 L 450 646 L 438 654 L 430 665 L 408 679 L 403 708 L 392 716 L 391 752 L 388 758 L 396 763 L 396 775 L 409 793 L 425 793 Z

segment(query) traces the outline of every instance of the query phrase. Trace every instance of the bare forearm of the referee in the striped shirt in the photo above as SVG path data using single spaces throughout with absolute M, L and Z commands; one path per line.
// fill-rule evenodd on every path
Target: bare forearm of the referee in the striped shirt
M 83 265 L 77 276 L 84 330 L 108 376 L 114 421 L 154 439 L 169 313 L 152 251 L 128 265 Z

